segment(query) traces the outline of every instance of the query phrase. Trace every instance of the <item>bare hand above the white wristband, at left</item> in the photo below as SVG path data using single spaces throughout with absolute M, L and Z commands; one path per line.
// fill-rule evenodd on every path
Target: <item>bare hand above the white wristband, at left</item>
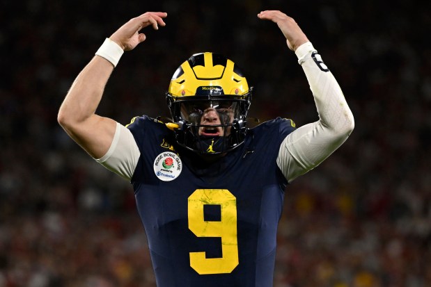
M 134 49 L 139 43 L 146 40 L 144 33 L 139 33 L 142 28 L 152 26 L 155 30 L 160 26 L 165 26 L 163 21 L 168 14 L 165 12 L 147 12 L 141 16 L 130 19 L 129 22 L 118 28 L 118 30 L 109 37 L 123 48 L 124 51 Z

